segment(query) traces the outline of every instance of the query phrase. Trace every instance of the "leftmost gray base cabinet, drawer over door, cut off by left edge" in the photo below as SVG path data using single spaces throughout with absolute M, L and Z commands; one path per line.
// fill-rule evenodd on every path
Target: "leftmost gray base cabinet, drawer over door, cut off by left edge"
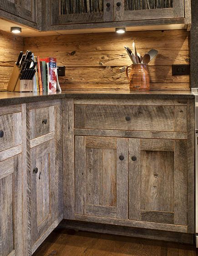
M 0 108 L 0 255 L 23 255 L 22 106 Z

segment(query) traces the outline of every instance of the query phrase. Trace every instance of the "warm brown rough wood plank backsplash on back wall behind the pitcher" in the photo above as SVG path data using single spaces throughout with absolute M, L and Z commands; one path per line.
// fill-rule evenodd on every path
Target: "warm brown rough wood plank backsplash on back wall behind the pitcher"
M 24 39 L 24 49 L 30 48 L 41 57 L 55 56 L 58 65 L 66 66 L 60 77 L 62 89 L 125 89 L 128 82 L 123 66 L 131 64 L 124 46 L 137 44 L 140 54 L 151 48 L 158 55 L 149 64 L 152 90 L 188 90 L 189 76 L 172 76 L 172 64 L 189 63 L 189 32 L 133 31 L 116 33 L 61 35 Z M 46 47 L 47 46 L 47 47 Z

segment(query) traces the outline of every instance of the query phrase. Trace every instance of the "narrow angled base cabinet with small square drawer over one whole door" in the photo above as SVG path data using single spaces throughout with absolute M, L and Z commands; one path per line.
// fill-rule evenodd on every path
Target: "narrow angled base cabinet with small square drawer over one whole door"
M 62 214 L 61 100 L 30 103 L 31 252 Z

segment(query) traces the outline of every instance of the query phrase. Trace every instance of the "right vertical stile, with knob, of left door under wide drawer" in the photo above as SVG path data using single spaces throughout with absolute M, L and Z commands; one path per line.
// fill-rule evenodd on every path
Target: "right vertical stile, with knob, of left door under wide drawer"
M 124 157 L 120 160 L 119 157 Z M 117 218 L 128 219 L 128 139 L 117 138 Z

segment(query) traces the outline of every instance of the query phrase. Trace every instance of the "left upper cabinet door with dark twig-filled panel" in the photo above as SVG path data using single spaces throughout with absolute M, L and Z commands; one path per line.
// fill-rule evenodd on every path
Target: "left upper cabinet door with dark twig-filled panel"
M 51 1 L 51 25 L 113 21 L 113 0 Z

